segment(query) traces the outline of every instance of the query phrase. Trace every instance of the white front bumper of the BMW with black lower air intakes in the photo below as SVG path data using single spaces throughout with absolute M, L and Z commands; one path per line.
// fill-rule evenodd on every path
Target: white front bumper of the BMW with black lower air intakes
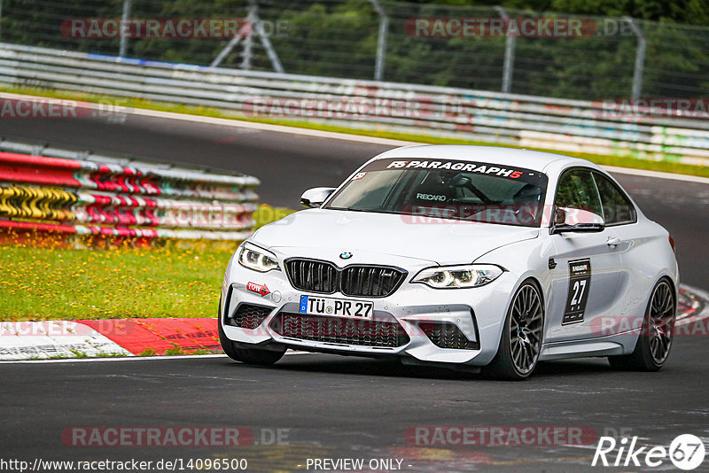
M 345 296 L 339 292 L 323 295 L 298 291 L 292 288 L 283 271 L 263 274 L 242 268 L 234 262 L 227 269 L 222 285 L 220 323 L 224 334 L 241 344 L 267 345 L 275 342 L 304 351 L 404 356 L 422 362 L 471 366 L 483 366 L 492 361 L 497 353 L 510 294 L 515 290 L 515 278 L 504 273 L 493 283 L 479 288 L 435 290 L 425 284 L 409 283 L 416 273 L 417 270 L 409 272 L 406 281 L 392 295 L 369 299 Z M 268 288 L 268 292 L 255 291 L 263 286 Z M 368 300 L 374 303 L 374 313 L 371 322 L 299 314 L 302 295 Z M 244 305 L 261 307 L 253 311 L 253 314 L 259 314 L 251 319 L 256 324 L 244 324 L 250 328 L 235 326 L 232 322 L 235 314 L 243 314 L 239 308 Z M 364 340 L 362 337 L 308 337 L 300 331 L 293 334 L 285 330 L 284 320 L 293 321 L 292 318 L 298 316 L 330 319 L 325 321 L 326 326 L 328 322 L 336 327 L 338 323 L 350 323 L 350 326 L 364 327 L 366 332 L 372 332 L 372 336 L 385 330 L 391 343 L 383 343 L 381 339 L 377 339 L 376 343 L 370 342 L 371 337 Z M 242 320 L 240 315 L 238 320 Z M 372 324 L 376 326 L 374 329 Z M 395 343 L 392 329 L 396 330 Z M 451 343 L 452 337 L 456 337 L 458 343 Z M 468 343 L 460 344 L 460 340 Z M 451 345 L 464 348 L 448 347 Z

